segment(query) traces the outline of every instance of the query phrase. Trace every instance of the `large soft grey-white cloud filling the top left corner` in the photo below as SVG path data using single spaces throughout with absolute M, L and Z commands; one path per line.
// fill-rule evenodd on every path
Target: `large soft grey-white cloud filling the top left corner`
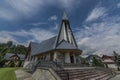
M 4 0 L 0 5 L 0 18 L 4 20 L 16 20 L 22 16 L 30 17 L 42 6 L 40 0 Z

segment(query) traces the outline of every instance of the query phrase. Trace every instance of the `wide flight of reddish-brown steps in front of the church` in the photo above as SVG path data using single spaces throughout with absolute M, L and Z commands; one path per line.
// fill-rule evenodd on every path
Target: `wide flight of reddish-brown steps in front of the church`
M 56 72 L 63 80 L 68 80 L 68 75 L 69 80 L 107 80 L 111 75 L 109 72 L 96 69 L 74 69 Z

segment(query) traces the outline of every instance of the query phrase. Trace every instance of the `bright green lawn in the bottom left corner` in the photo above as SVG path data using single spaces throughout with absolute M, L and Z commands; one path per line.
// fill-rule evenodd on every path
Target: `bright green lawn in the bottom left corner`
M 0 68 L 0 80 L 17 80 L 15 70 L 18 68 Z

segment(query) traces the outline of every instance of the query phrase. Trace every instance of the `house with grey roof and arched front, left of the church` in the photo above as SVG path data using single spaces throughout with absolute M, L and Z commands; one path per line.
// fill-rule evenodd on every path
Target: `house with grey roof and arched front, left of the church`
M 18 66 L 18 65 L 22 66 L 25 59 L 25 55 L 15 54 L 15 53 L 6 53 L 4 58 L 6 60 L 6 63 L 5 63 L 6 66 L 8 66 L 11 63 L 14 64 L 12 67 Z

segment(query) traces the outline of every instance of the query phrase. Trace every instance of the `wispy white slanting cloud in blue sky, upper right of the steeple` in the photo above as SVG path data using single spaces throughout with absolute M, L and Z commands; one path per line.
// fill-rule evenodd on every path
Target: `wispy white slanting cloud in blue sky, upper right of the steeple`
M 95 7 L 91 13 L 88 15 L 86 22 L 100 19 L 101 17 L 106 16 L 106 9 L 104 7 Z

